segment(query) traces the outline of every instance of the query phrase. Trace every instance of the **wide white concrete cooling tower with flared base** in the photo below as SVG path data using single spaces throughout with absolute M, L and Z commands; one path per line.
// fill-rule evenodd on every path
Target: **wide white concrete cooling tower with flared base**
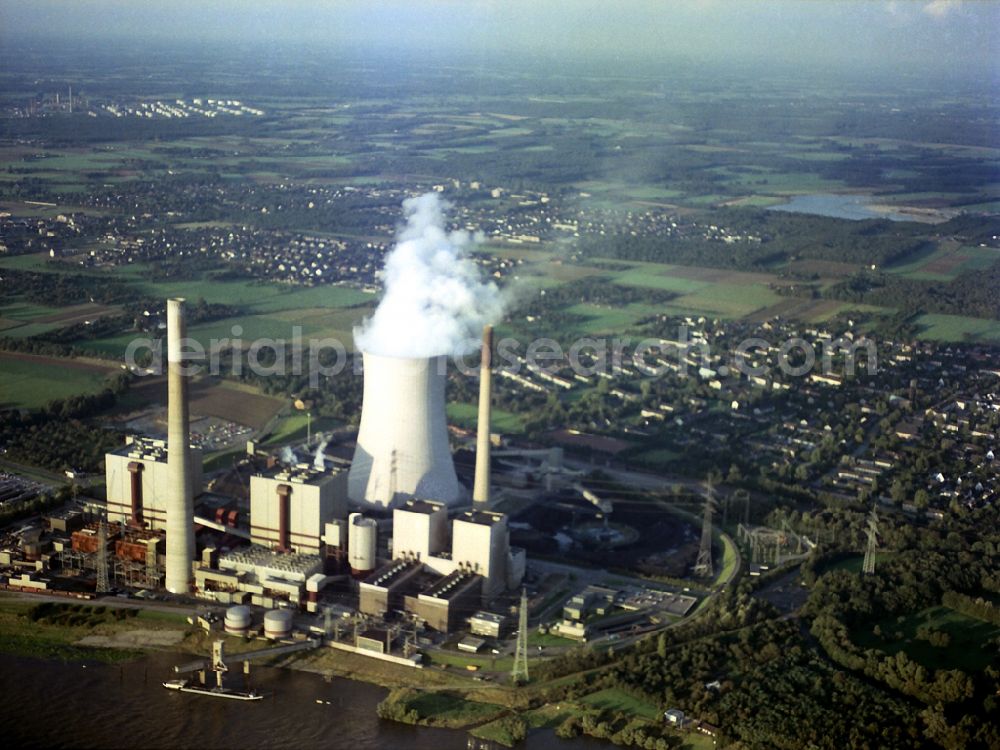
M 448 445 L 444 357 L 410 359 L 364 352 L 365 387 L 347 495 L 387 509 L 419 497 L 462 500 Z

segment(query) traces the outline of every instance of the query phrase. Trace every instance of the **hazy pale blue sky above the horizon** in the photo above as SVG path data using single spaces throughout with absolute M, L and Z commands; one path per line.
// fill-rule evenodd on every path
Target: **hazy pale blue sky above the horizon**
M 1000 78 L 1000 0 L 0 0 L 0 44 L 303 42 L 963 71 Z

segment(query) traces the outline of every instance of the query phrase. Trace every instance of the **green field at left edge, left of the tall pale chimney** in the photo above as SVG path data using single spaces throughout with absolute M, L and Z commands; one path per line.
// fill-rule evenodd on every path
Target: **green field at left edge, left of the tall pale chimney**
M 110 370 L 60 367 L 50 361 L 25 361 L 0 355 L 0 408 L 37 409 L 57 398 L 98 393 Z

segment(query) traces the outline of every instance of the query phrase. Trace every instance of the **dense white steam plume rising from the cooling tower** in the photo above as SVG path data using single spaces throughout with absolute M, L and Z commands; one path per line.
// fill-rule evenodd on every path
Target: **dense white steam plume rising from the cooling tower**
M 403 201 L 406 225 L 386 257 L 382 301 L 354 329 L 362 350 L 394 357 L 466 354 L 478 346 L 482 327 L 500 319 L 503 294 L 483 282 L 469 259 L 469 233 L 445 229 L 447 208 L 437 193 Z

